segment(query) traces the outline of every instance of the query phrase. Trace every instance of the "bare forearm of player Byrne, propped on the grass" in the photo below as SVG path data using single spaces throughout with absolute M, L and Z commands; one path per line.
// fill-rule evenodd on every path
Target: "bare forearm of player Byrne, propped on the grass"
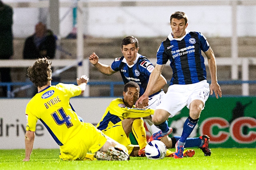
M 25 134 L 25 158 L 23 161 L 29 161 L 30 160 L 30 155 L 33 149 L 33 144 L 34 144 L 34 139 L 35 139 L 35 132 L 33 131 L 26 131 Z

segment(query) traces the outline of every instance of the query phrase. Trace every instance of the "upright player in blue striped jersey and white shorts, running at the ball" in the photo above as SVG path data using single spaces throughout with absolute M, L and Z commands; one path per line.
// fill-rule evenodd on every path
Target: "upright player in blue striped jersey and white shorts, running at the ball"
M 166 95 L 162 98 L 161 104 L 156 107 L 152 121 L 161 129 L 152 135 L 152 140 L 159 140 L 168 135 L 170 129 L 166 124 L 168 117 L 173 117 L 183 107 L 189 109 L 188 119 L 184 123 L 183 132 L 176 143 L 174 158 L 183 158 L 186 139 L 196 126 L 200 113 L 209 93 L 215 93 L 216 98 L 222 96 L 216 76 L 216 61 L 214 53 L 206 38 L 200 32 L 192 32 L 186 29 L 188 17 L 184 12 L 174 12 L 170 17 L 172 32 L 160 45 L 156 57 L 157 64 L 150 74 L 148 86 L 144 94 L 138 99 L 136 106 L 147 100 L 154 84 L 157 82 L 164 65 L 170 60 L 172 68 L 172 79 Z M 206 67 L 203 51 L 207 57 L 211 85 L 206 81 Z M 210 156 L 208 140 L 205 140 L 207 147 L 203 148 L 204 154 Z M 206 145 L 204 145 L 206 146 Z

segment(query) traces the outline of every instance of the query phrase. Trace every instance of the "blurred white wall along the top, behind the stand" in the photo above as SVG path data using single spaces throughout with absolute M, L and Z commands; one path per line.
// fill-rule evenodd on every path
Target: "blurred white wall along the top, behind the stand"
M 48 0 L 3 0 L 9 4 L 20 2 L 20 6 L 24 6 L 24 8 L 14 8 L 14 37 L 27 37 L 34 32 L 34 25 L 39 20 L 48 21 L 47 8 L 26 8 L 26 3 L 40 1 L 47 2 Z M 72 31 L 73 11 L 72 6 L 68 4 L 75 4 L 78 1 L 92 4 L 92 7 L 84 7 L 80 10 L 83 11 L 84 34 L 94 37 L 166 36 L 170 32 L 170 15 L 175 11 L 183 11 L 188 15 L 188 29 L 191 31 L 200 31 L 206 37 L 230 37 L 232 24 L 234 24 L 232 22 L 232 1 L 238 4 L 236 18 L 238 36 L 256 36 L 256 6 L 250 5 L 254 0 L 58 1 L 60 3 L 60 37 L 66 37 Z M 95 2 L 94 5 L 92 2 Z M 155 3 L 150 4 L 150 2 Z

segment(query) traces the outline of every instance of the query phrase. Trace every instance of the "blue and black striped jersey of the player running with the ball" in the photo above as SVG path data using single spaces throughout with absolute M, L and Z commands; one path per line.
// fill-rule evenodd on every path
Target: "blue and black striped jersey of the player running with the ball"
M 206 68 L 201 51 L 210 48 L 204 35 L 186 30 L 186 35 L 174 39 L 171 34 L 162 42 L 157 52 L 157 64 L 170 60 L 172 84 L 194 84 L 206 80 Z

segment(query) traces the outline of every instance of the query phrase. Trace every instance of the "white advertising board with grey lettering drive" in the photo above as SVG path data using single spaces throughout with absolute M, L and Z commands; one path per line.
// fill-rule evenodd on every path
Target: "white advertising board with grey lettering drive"
M 84 122 L 97 124 L 114 98 L 71 98 L 70 103 Z M 0 99 L 0 149 L 25 149 L 26 105 L 30 99 Z M 44 125 L 38 121 L 34 149 L 58 149 Z

